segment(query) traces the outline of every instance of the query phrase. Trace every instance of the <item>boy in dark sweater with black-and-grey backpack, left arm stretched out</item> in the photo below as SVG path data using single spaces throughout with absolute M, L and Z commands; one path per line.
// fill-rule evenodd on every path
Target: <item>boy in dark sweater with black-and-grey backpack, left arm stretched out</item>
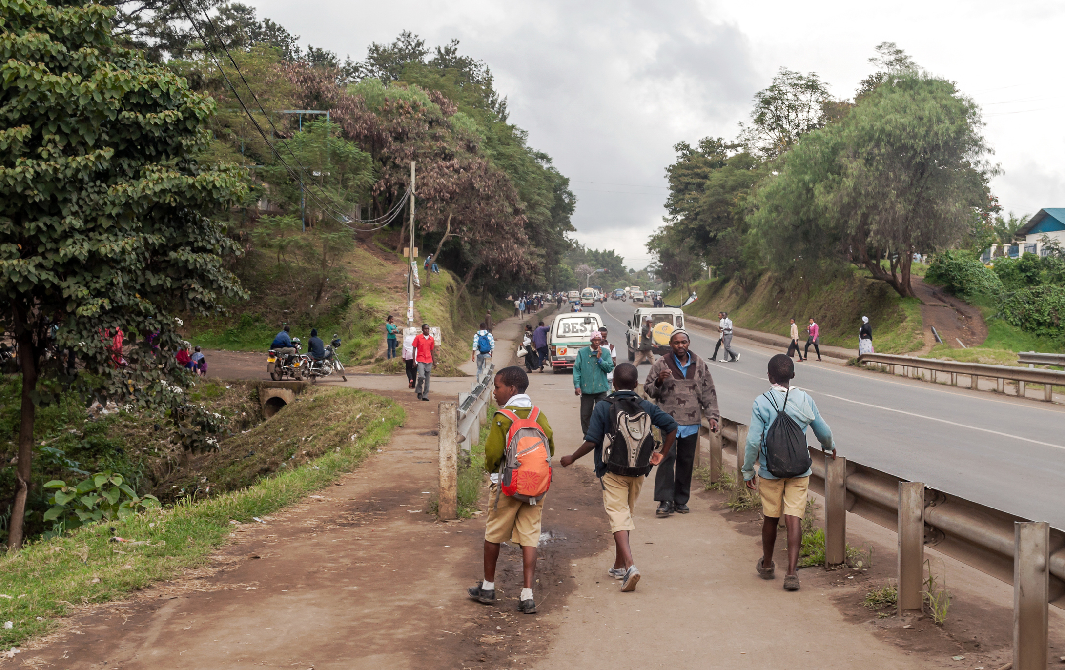
M 633 550 L 628 541 L 628 534 L 636 529 L 636 524 L 633 523 L 633 510 L 640 497 L 643 480 L 651 474 L 651 465 L 657 465 L 670 453 L 677 429 L 676 421 L 672 416 L 658 409 L 654 403 L 637 395 L 638 385 L 639 372 L 636 365 L 632 363 L 618 365 L 613 371 L 615 392 L 608 395 L 607 399 L 595 404 L 584 444 L 561 459 L 562 468 L 569 468 L 585 454 L 595 450 L 595 476 L 600 478 L 603 489 L 603 507 L 606 508 L 606 516 L 610 520 L 610 533 L 613 535 L 616 549 L 613 567 L 608 574 L 621 579 L 621 590 L 626 592 L 635 590 L 636 583 L 640 581 L 640 571 L 633 561 Z M 651 454 L 646 473 L 642 475 L 626 476 L 609 472 L 607 464 L 603 462 L 603 441 L 607 436 L 611 439 L 617 437 L 618 412 L 626 409 L 624 404 L 619 402 L 623 399 L 635 402 L 651 419 L 651 424 L 657 426 L 666 436 L 661 452 Z

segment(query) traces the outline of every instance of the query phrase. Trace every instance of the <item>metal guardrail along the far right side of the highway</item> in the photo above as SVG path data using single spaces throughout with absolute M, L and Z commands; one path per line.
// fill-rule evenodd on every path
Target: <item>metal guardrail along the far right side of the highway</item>
M 1052 355 L 1043 354 L 1042 356 Z M 1043 399 L 1048 403 L 1053 399 L 1053 387 L 1065 386 L 1065 372 L 1059 370 L 965 363 L 940 358 L 895 356 L 892 354 L 862 354 L 858 356 L 858 362 L 886 365 L 891 374 L 896 374 L 896 367 L 901 366 L 904 377 L 923 378 L 920 371 L 928 370 L 931 373 L 929 380 L 933 382 L 938 382 L 937 373 L 947 373 L 950 375 L 951 386 L 957 386 L 958 375 L 968 376 L 970 389 L 977 389 L 977 380 L 980 377 L 987 377 L 998 380 L 998 391 L 1000 393 L 1005 393 L 1005 380 L 1009 379 L 1017 382 L 1017 395 L 1021 397 L 1025 396 L 1025 385 L 1038 383 L 1043 385 Z

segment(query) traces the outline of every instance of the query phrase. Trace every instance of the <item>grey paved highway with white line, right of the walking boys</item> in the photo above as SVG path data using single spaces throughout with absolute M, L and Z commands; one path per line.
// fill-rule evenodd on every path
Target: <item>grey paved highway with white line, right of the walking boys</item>
M 604 317 L 619 362 L 625 360 L 625 322 L 632 318 L 633 304 L 609 300 L 594 311 Z M 782 332 L 785 328 L 781 326 Z M 687 330 L 692 350 L 708 359 L 716 332 Z M 738 338 L 733 348 L 740 360 L 711 361 L 710 372 L 721 413 L 750 423 L 754 397 L 769 387 L 766 364 L 782 352 Z M 841 456 L 1065 529 L 1061 406 L 933 386 L 829 360 L 796 363 L 793 383 L 814 396 Z M 649 370 L 641 365 L 641 377 Z

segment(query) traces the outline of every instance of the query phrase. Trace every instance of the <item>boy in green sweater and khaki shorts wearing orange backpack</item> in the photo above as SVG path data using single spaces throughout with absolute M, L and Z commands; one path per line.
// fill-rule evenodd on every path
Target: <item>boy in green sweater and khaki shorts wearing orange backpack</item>
M 532 584 L 540 543 L 543 497 L 551 486 L 551 457 L 555 441 L 551 424 L 525 394 L 528 375 L 521 367 L 504 367 L 495 375 L 492 427 L 485 441 L 485 470 L 491 474 L 488 522 L 485 527 L 485 579 L 466 589 L 470 598 L 495 604 L 495 563 L 499 543 L 522 548 L 524 584 L 518 610 L 536 614 Z

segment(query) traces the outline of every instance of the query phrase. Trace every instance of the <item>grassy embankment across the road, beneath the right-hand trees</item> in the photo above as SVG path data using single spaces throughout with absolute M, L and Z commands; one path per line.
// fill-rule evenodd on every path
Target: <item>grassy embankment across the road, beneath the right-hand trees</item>
M 813 316 L 822 343 L 857 349 L 862 316 L 868 316 L 878 352 L 905 354 L 923 345 L 920 301 L 900 298 L 884 282 L 858 272 L 810 281 L 767 273 L 750 294 L 736 281 L 723 279 L 698 281 L 693 289 L 699 299 L 685 312 L 717 321 L 718 312 L 726 311 L 740 328 L 787 337 L 793 316 L 805 339 L 803 328 Z M 675 289 L 666 301 L 678 305 L 686 297 L 683 289 Z

